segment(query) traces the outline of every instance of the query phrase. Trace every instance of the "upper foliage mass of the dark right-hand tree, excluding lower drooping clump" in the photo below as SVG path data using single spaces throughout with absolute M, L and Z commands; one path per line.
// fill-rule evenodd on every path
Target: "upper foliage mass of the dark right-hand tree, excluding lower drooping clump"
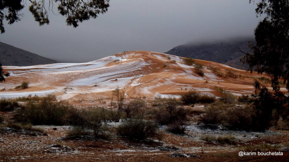
M 250 0 L 252 2 L 252 0 Z M 254 1 L 253 1 L 254 2 Z M 255 28 L 256 44 L 250 43 L 252 53 L 243 56 L 249 70 L 266 72 L 273 90 L 279 91 L 279 79 L 289 90 L 289 0 L 260 0 L 256 14 L 266 16 Z

